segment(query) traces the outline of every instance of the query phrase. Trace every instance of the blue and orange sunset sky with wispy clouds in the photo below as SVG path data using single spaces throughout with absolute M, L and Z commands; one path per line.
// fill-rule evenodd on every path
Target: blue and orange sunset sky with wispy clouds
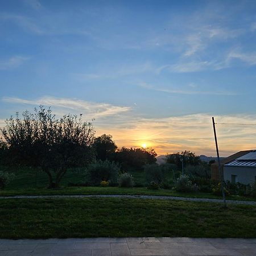
M 255 1 L 1 1 L 0 126 L 43 104 L 118 147 L 256 149 Z

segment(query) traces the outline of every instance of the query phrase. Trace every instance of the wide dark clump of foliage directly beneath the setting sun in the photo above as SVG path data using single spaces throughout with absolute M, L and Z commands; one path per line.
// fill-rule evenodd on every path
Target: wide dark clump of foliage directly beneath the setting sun
M 123 170 L 142 170 L 145 164 L 156 162 L 156 152 L 153 148 L 118 148 L 113 160 L 121 164 Z

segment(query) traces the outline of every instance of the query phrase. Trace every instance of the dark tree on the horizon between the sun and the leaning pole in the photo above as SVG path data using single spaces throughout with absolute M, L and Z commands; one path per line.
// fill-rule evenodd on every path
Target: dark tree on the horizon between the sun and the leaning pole
M 176 164 L 179 170 L 181 170 L 182 168 L 181 159 L 183 159 L 183 163 L 185 166 L 187 164 L 190 164 L 192 166 L 197 166 L 201 163 L 200 157 L 198 155 L 187 150 L 182 151 L 181 153 L 176 152 L 166 156 L 166 162 Z

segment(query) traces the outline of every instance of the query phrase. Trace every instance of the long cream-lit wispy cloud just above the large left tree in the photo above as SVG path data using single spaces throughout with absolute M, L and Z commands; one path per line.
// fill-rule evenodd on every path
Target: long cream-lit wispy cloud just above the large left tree
M 72 110 L 72 113 L 84 113 L 86 118 L 104 118 L 123 112 L 128 112 L 131 109 L 128 106 L 115 106 L 106 103 L 77 100 L 75 98 L 56 98 L 51 96 L 45 96 L 37 100 L 3 97 L 2 100 L 13 104 L 26 104 L 34 106 L 42 104 L 44 106 L 52 106 L 53 108 L 59 108 L 58 110 L 62 110 L 61 112 L 65 112 L 66 114 L 67 110 L 69 112 Z

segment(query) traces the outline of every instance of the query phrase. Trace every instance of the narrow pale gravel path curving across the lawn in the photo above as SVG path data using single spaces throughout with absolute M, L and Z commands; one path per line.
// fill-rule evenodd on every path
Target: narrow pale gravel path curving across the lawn
M 138 199 L 160 199 L 160 200 L 182 200 L 200 201 L 210 203 L 222 203 L 220 199 L 192 198 L 179 196 L 147 196 L 147 195 L 46 195 L 46 196 L 0 196 L 0 199 L 36 199 L 36 198 L 81 198 L 81 197 L 114 197 L 114 198 L 138 198 Z M 228 204 L 256 205 L 256 201 L 226 200 Z

